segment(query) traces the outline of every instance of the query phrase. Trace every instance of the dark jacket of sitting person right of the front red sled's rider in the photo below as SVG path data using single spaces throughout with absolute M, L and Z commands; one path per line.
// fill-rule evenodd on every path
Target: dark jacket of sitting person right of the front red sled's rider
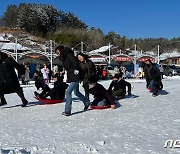
M 119 89 L 123 89 L 126 93 L 126 87 L 128 87 L 128 91 L 131 92 L 131 84 L 124 79 L 114 80 L 110 83 L 108 91 L 118 91 Z

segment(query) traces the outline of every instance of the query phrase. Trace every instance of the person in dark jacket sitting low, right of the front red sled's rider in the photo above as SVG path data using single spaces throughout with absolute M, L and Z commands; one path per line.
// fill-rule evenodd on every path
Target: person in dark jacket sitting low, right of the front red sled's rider
M 109 85 L 108 91 L 112 94 L 113 98 L 125 98 L 126 87 L 128 89 L 128 96 L 131 96 L 131 84 L 122 78 L 123 73 L 115 74 L 112 82 Z

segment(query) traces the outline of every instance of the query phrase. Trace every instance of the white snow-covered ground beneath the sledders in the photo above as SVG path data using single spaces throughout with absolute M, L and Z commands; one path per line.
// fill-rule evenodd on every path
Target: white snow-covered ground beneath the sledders
M 0 153 L 180 153 L 179 148 L 164 148 L 166 140 L 180 139 L 180 77 L 166 77 L 157 97 L 145 89 L 145 80 L 128 81 L 139 97 L 120 100 L 116 110 L 87 112 L 74 99 L 70 117 L 61 115 L 64 103 L 40 105 L 33 98 L 33 84 L 23 88 L 26 108 L 19 106 L 16 94 L 6 95 L 8 105 L 0 108 Z M 100 83 L 107 88 L 110 80 Z

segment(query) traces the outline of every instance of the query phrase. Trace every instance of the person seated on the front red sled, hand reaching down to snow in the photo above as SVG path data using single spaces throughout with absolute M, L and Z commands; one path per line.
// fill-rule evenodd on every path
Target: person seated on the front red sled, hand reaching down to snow
M 109 106 L 115 109 L 115 102 L 108 92 L 101 84 L 97 83 L 96 77 L 89 78 L 89 93 L 94 96 L 94 100 L 91 102 L 91 106 Z

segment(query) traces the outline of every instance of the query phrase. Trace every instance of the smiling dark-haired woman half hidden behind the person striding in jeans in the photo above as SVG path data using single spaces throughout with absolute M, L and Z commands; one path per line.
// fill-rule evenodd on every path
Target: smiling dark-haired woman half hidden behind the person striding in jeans
M 77 54 L 77 58 L 80 63 L 80 68 L 83 73 L 83 88 L 85 91 L 85 96 L 89 99 L 89 83 L 88 79 L 92 76 L 96 76 L 96 68 L 94 63 L 89 60 L 89 56 L 80 52 Z

